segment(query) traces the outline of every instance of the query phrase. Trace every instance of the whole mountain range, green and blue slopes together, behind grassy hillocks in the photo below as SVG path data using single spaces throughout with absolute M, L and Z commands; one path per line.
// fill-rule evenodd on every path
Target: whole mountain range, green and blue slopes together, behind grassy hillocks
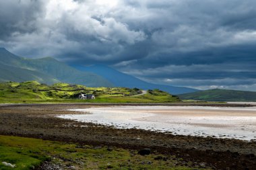
M 67 65 L 51 57 L 24 58 L 5 48 L 0 48 L 0 81 L 38 81 L 49 85 L 63 82 L 88 87 L 137 87 L 160 89 L 174 95 L 198 91 L 187 87 L 148 83 L 104 65 L 82 67 Z

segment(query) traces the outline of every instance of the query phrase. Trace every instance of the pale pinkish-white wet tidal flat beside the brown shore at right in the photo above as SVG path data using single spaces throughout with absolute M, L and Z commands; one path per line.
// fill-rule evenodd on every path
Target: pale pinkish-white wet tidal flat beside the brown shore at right
M 115 128 L 141 128 L 192 136 L 256 140 L 256 107 L 115 106 L 75 109 L 59 118 Z M 89 112 L 90 114 L 84 114 Z

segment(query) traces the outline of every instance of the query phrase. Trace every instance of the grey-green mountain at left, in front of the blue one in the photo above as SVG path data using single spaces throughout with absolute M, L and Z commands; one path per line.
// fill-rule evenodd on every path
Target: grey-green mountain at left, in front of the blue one
M 0 48 L 0 81 L 64 82 L 88 87 L 113 87 L 113 83 L 100 75 L 78 71 L 54 58 L 22 58 L 5 48 Z

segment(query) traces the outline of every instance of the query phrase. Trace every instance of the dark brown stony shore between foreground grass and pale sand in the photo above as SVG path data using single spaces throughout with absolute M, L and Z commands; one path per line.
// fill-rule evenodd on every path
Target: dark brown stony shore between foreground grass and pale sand
M 102 107 L 102 105 L 99 105 Z M 146 130 L 119 130 L 90 123 L 55 118 L 70 114 L 63 109 L 97 105 L 1 105 L 0 134 L 122 148 L 152 148 L 163 154 L 177 155 L 185 161 L 207 163 L 214 169 L 255 169 L 256 142 L 174 136 Z

